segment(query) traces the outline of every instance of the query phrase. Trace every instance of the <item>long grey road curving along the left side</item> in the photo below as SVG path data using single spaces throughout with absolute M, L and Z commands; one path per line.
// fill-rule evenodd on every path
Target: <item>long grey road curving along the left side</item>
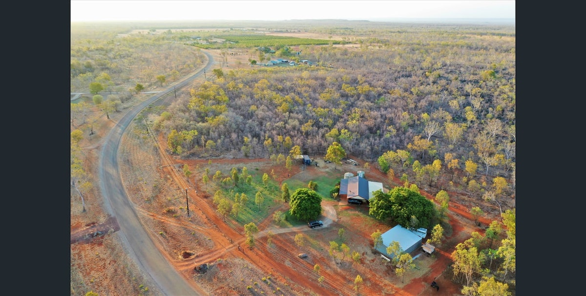
M 159 252 L 155 243 L 151 240 L 147 230 L 140 222 L 134 204 L 128 199 L 118 168 L 118 147 L 124 131 L 130 122 L 142 109 L 148 105 L 172 94 L 174 90 L 185 87 L 195 78 L 209 71 L 214 60 L 211 54 L 204 51 L 208 63 L 202 70 L 175 84 L 172 88 L 161 91 L 153 97 L 132 108 L 104 139 L 100 153 L 99 178 L 100 190 L 104 197 L 105 210 L 118 221 L 120 225 L 120 237 L 127 247 L 130 256 L 138 263 L 141 269 L 151 276 L 157 287 L 165 295 L 206 295 L 207 293 L 195 284 L 189 284 L 180 274 L 173 269 L 171 264 Z

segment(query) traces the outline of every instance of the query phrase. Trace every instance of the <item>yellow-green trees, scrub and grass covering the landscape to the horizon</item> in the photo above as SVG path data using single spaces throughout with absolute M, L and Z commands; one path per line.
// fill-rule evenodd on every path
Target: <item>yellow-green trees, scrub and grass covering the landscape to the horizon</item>
M 454 281 L 464 285 L 464 295 L 514 294 L 515 27 L 376 24 L 367 29 L 361 22 L 352 29 L 338 22 L 287 26 L 328 32 L 343 40 L 270 33 L 254 39 L 250 32 L 232 27 L 132 34 L 130 27 L 92 27 L 89 34 L 89 27 L 72 24 L 70 89 L 92 92 L 93 104 L 109 119 L 139 92 L 165 87 L 201 66 L 204 56 L 197 47 L 220 49 L 224 57 L 237 49 L 255 63 L 276 58 L 312 61 L 315 65 L 252 63 L 225 71 L 217 67 L 168 108 L 152 109 L 153 128 L 165 135 L 170 152 L 180 157 L 265 158 L 285 167 L 297 154 L 326 156 L 333 164 L 359 157 L 404 183 L 388 194 L 377 194 L 364 215 L 389 224 L 437 229 L 437 243 L 444 229 L 451 231 L 444 215 L 449 199 L 465 196 L 463 204 L 476 216 L 497 213 L 501 219 L 456 247 L 451 254 Z M 118 94 L 104 99 L 98 94 L 103 92 Z M 78 143 L 96 128 L 86 118 L 88 104 L 92 103 L 71 104 L 71 182 L 82 200 L 92 184 Z M 198 181 L 213 193 L 217 212 L 244 228 L 251 249 L 258 223 L 272 215 L 268 205 L 290 199 L 293 211 L 278 213 L 275 221 L 301 225 L 315 216 L 316 209 L 310 205 L 297 211 L 299 195 L 333 200 L 332 188 L 339 181 L 339 176 L 309 184 L 292 181 L 284 192 L 274 176 L 254 168 L 183 170 L 188 178 L 192 173 L 203 176 Z M 434 195 L 435 204 L 419 188 Z M 403 199 L 410 202 L 404 204 Z M 404 209 L 401 215 L 397 207 Z M 373 233 L 373 244 L 376 237 Z M 318 246 L 311 238 L 299 237 L 295 243 Z M 329 245 L 336 264 L 358 261 L 343 232 Z M 396 257 L 401 262 L 397 276 L 402 278 L 412 259 Z M 362 277 L 356 276 L 354 283 L 359 292 Z

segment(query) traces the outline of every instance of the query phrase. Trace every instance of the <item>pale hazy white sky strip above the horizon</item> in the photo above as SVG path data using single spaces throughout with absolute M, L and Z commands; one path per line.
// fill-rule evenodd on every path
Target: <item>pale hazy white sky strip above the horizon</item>
M 71 22 L 93 20 L 515 19 L 510 0 L 73 0 Z

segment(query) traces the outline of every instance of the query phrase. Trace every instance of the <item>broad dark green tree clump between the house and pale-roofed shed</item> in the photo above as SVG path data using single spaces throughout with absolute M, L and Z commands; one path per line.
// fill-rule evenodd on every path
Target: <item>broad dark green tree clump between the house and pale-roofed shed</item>
M 417 190 L 395 187 L 388 193 L 377 191 L 370 199 L 369 214 L 377 219 L 391 218 L 401 226 L 411 227 L 411 216 L 418 221 L 417 227 L 430 228 L 435 218 L 434 204 Z

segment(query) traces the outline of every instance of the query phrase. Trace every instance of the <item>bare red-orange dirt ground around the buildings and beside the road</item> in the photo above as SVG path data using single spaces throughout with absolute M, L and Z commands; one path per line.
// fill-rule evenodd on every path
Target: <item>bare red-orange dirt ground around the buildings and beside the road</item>
M 100 111 L 97 111 L 98 113 Z M 113 115 L 111 121 L 107 121 L 107 124 L 102 126 L 100 130 L 97 130 L 97 135 L 94 139 L 90 139 L 90 143 L 86 145 L 86 149 L 90 149 L 87 153 L 88 159 L 86 160 L 88 170 L 95 170 L 96 150 L 100 147 L 100 140 L 110 128 L 115 124 L 115 118 L 122 116 L 123 114 Z M 164 137 L 159 135 L 159 143 L 166 143 Z M 164 151 L 165 147 L 161 147 Z M 96 149 L 96 150 L 94 150 Z M 137 149 L 138 150 L 138 149 Z M 145 149 L 148 150 L 148 149 Z M 137 152 L 135 152 L 137 153 Z M 144 154 L 144 152 L 141 152 Z M 148 152 L 151 153 L 152 152 Z M 140 161 L 145 161 L 144 155 L 134 155 L 133 157 Z M 462 285 L 454 283 L 452 281 L 452 273 L 449 269 L 449 265 L 452 263 L 450 254 L 454 251 L 455 246 L 459 242 L 463 242 L 468 239 L 473 231 L 483 233 L 483 228 L 474 225 L 473 218 L 469 213 L 469 209 L 458 203 L 457 198 L 452 198 L 450 194 L 449 212 L 448 218 L 449 223 L 452 226 L 452 235 L 445 238 L 444 242 L 437 247 L 434 256 L 425 257 L 421 255 L 420 261 L 423 265 L 424 262 L 431 262 L 429 267 L 422 267 L 421 270 L 409 270 L 404 277 L 404 283 L 401 283 L 401 279 L 394 274 L 394 270 L 390 267 L 384 267 L 383 264 L 373 264 L 379 260 L 380 257 L 377 254 L 372 253 L 372 238 L 370 234 L 377 228 L 388 229 L 389 226 L 381 223 L 375 225 L 369 225 L 369 229 L 357 229 L 352 227 L 353 225 L 366 225 L 362 221 L 356 221 L 354 216 L 346 216 L 342 214 L 352 213 L 353 211 L 365 211 L 367 208 L 365 205 L 362 206 L 347 206 L 345 202 L 337 201 L 324 201 L 322 206 L 326 206 L 330 209 L 335 209 L 333 212 L 332 224 L 322 229 L 312 229 L 308 231 L 304 229 L 294 229 L 292 232 L 276 234 L 273 239 L 274 247 L 267 247 L 262 244 L 255 246 L 253 250 L 247 249 L 245 244 L 245 237 L 243 232 L 238 227 L 231 227 L 224 222 L 222 218 L 217 215 L 215 206 L 212 203 L 212 196 L 214 192 L 207 192 L 205 186 L 195 180 L 202 180 L 200 174 L 202 168 L 208 166 L 208 160 L 184 160 L 169 157 L 166 153 L 161 153 L 163 161 L 171 161 L 166 163 L 170 166 L 161 166 L 153 168 L 156 178 L 161 180 L 167 180 L 166 184 L 162 184 L 165 190 L 159 195 L 160 197 L 154 198 L 156 201 L 152 204 L 144 205 L 144 202 L 138 199 L 133 199 L 132 202 L 137 204 L 137 212 L 148 221 L 148 225 L 155 225 L 156 228 L 151 228 L 152 238 L 155 241 L 155 245 L 158 245 L 161 254 L 165 256 L 168 261 L 175 267 L 176 270 L 183 277 L 186 278 L 188 283 L 192 284 L 194 290 L 211 291 L 211 295 L 242 295 L 242 294 L 258 294 L 254 291 L 247 291 L 246 285 L 243 284 L 242 290 L 235 291 L 230 288 L 222 277 L 213 277 L 205 280 L 205 277 L 200 275 L 194 270 L 194 267 L 202 263 L 214 263 L 217 269 L 225 269 L 227 264 L 224 265 L 219 259 L 227 261 L 234 261 L 233 259 L 241 258 L 251 264 L 252 267 L 246 267 L 243 270 L 250 270 L 255 273 L 257 277 L 261 277 L 261 274 L 271 275 L 271 280 L 274 281 L 275 285 L 282 287 L 283 294 L 296 294 L 296 295 L 332 295 L 335 294 L 333 291 L 343 291 L 342 295 L 356 294 L 352 290 L 354 285 L 354 279 L 356 274 L 364 280 L 364 284 L 359 290 L 360 295 L 461 295 L 460 291 Z M 148 157 L 159 157 L 149 155 Z M 363 160 L 352 157 L 359 161 L 359 163 L 366 163 Z M 146 159 L 151 160 L 151 159 Z M 160 159 L 159 159 L 160 160 Z M 156 160 L 155 160 L 156 161 Z M 276 181 L 282 184 L 287 178 L 302 178 L 302 180 L 312 180 L 319 174 L 332 173 L 339 174 L 340 178 L 343 177 L 345 171 L 366 171 L 366 178 L 371 181 L 381 182 L 383 184 L 389 184 L 388 177 L 381 173 L 377 169 L 369 169 L 363 167 L 355 167 L 349 164 L 343 164 L 342 166 L 333 166 L 333 164 L 325 164 L 322 159 L 318 159 L 319 167 L 309 166 L 305 170 L 301 171 L 299 166 L 294 166 L 291 171 L 291 176 L 288 177 L 288 171 L 284 166 L 276 166 L 271 164 L 268 159 L 212 159 L 214 165 L 222 165 L 226 170 L 229 171 L 231 167 L 246 166 L 248 164 L 255 164 L 260 166 L 260 171 L 270 174 L 274 171 L 277 176 Z M 168 194 L 169 191 L 180 191 L 180 184 L 185 184 L 185 180 L 179 177 L 176 172 L 172 171 L 172 167 L 180 164 L 188 164 L 191 171 L 194 172 L 190 176 L 193 183 L 189 185 L 193 187 L 193 190 L 189 190 L 189 204 L 190 214 L 188 218 L 185 215 L 171 216 L 163 214 L 165 209 L 169 207 L 160 199 L 163 199 L 163 194 Z M 200 168 L 199 171 L 197 168 Z M 137 168 L 140 170 L 140 168 Z M 302 173 L 302 174 L 301 174 Z M 123 174 L 124 176 L 124 174 Z M 171 178 L 169 178 L 171 177 Z M 129 177 L 126 177 L 129 178 Z M 126 181 L 125 181 L 126 182 Z M 130 183 L 130 182 L 129 182 Z M 144 183 L 147 183 L 146 181 Z M 393 186 L 402 184 L 398 178 L 394 178 Z M 139 195 L 141 191 L 144 191 L 144 187 L 131 186 L 126 188 L 129 198 Z M 197 194 L 195 193 L 197 191 Z M 428 199 L 433 200 L 433 195 L 428 194 L 424 190 L 421 190 Z M 151 287 L 149 295 L 159 295 L 160 291 L 157 291 L 153 283 L 136 283 L 127 278 L 134 279 L 135 277 L 141 278 L 140 272 L 133 269 L 132 263 L 128 261 L 125 256 L 121 256 L 121 248 L 117 242 L 117 236 L 110 235 L 111 233 L 117 232 L 120 228 L 118 227 L 117 221 L 110 218 L 100 209 L 101 201 L 99 197 L 92 197 L 88 195 L 86 197 L 86 203 L 88 211 L 83 215 L 77 214 L 80 212 L 79 199 L 73 192 L 71 197 L 71 266 L 76 266 L 79 273 L 83 275 L 84 284 L 82 287 L 75 287 L 74 292 L 74 276 L 72 271 L 71 280 L 71 295 L 79 295 L 79 291 L 89 291 L 92 287 L 99 287 L 103 290 L 108 290 L 110 295 L 127 295 L 127 294 L 141 294 L 141 291 L 137 290 L 136 287 L 139 284 L 145 284 Z M 185 201 L 185 199 L 183 199 Z M 160 202 L 160 204 L 159 204 Z M 288 204 L 282 204 L 271 208 L 271 212 L 274 211 L 286 211 Z M 337 212 L 336 212 L 337 211 Z M 326 212 L 326 211 L 325 211 Z M 342 213 L 346 212 L 346 213 Z M 182 213 L 182 212 L 181 212 Z M 324 215 L 331 215 L 325 213 Z M 488 216 L 488 215 L 487 215 Z M 329 216 L 328 216 L 329 217 Z M 493 217 L 479 218 L 479 222 L 482 225 L 488 225 Z M 351 219 L 351 221 L 350 221 Z M 101 221 L 101 222 L 96 222 Z M 272 221 L 272 215 L 268 215 L 264 221 L 258 223 L 258 229 L 262 233 L 263 231 L 275 229 L 274 222 Z M 159 229 L 163 228 L 162 230 Z M 241 226 L 240 226 L 241 227 Z M 236 229 L 235 229 L 236 228 Z M 311 235 L 312 239 L 322 242 L 323 245 L 328 245 L 328 241 L 335 240 L 338 235 L 338 229 L 345 228 L 345 239 L 344 241 L 352 247 L 352 250 L 357 250 L 362 254 L 362 260 L 359 264 L 351 265 L 352 262 L 346 262 L 345 264 L 335 264 L 331 256 L 328 255 L 328 246 L 325 246 L 325 250 L 319 253 L 311 252 L 298 252 L 299 247 L 295 245 L 293 236 L 297 233 L 304 233 L 304 235 Z M 180 230 L 176 230 L 180 229 Z M 175 231 L 176 230 L 176 231 Z M 158 235 L 160 232 L 169 233 L 167 240 L 161 239 Z M 181 232 L 187 232 L 182 234 Z M 209 245 L 197 245 L 193 242 L 193 236 L 191 233 L 205 233 L 206 238 L 213 243 Z M 173 237 L 171 237 L 173 236 Z M 173 244 L 172 242 L 178 242 Z M 189 242 L 189 248 L 186 242 Z M 323 246 L 322 245 L 322 246 Z M 114 249 L 112 249 L 114 246 Z M 240 249 L 239 249 L 240 247 Z M 108 249 L 109 248 L 109 249 Z M 197 250 L 192 250 L 197 248 Z M 296 258 L 297 253 L 309 253 L 309 259 L 304 262 L 305 265 L 299 266 L 288 266 L 282 261 L 283 256 L 277 256 L 277 250 L 289 250 L 293 257 Z M 193 251 L 193 253 L 191 253 Z M 107 257 L 110 254 L 110 257 Z M 179 255 L 180 254 L 180 255 Z M 415 255 L 415 254 L 413 254 Z M 181 257 L 182 256 L 182 257 Z M 96 257 L 95 259 L 93 257 Z M 301 260 L 301 259 L 298 259 Z M 299 264 L 297 261 L 292 261 L 291 264 Z M 84 262 L 81 262 L 84 261 Z M 86 262 L 87 261 L 87 262 Z M 350 260 L 347 260 L 350 261 Z M 380 261 L 380 260 L 379 260 Z M 300 269 L 313 269 L 314 264 L 319 264 L 322 267 L 320 275 L 326 278 L 324 283 L 319 283 L 315 278 L 299 276 Z M 123 266 L 118 269 L 113 269 L 113 266 Z M 127 269 L 131 270 L 128 271 Z M 231 270 L 234 274 L 239 273 L 237 270 Z M 130 276 L 129 276 L 130 274 Z M 90 279 L 91 278 L 91 283 Z M 94 278 L 96 281 L 94 282 Z M 115 284 L 117 278 L 124 278 L 121 280 L 121 284 Z M 228 278 L 227 280 L 230 280 Z M 231 278 L 231 281 L 236 281 L 237 277 Z M 430 283 L 436 281 L 440 286 L 440 292 L 436 291 L 435 288 L 430 287 Z M 113 282 L 113 283 L 110 283 Z M 284 285 L 281 285 L 284 284 Z M 76 283 L 77 284 L 77 283 Z M 202 285 L 202 287 L 200 287 Z M 105 287 L 105 288 L 104 288 Z M 122 287 L 133 287 L 128 290 L 122 290 Z M 288 289 L 288 290 L 287 290 Z M 436 294 L 438 293 L 438 294 Z

